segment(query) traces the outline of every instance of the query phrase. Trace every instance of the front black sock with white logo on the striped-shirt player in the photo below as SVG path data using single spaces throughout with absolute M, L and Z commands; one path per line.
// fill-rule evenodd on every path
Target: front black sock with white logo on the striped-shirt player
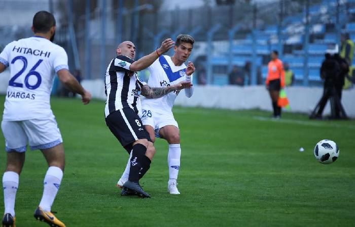
M 133 146 L 131 166 L 129 169 L 128 180 L 138 183 L 139 172 L 143 169 L 145 163 L 147 148 L 144 145 L 136 144 Z

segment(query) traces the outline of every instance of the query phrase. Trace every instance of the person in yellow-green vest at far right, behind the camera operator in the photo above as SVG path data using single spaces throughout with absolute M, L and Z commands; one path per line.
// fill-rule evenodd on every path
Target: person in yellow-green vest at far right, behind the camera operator
M 352 76 L 352 59 L 354 56 L 354 43 L 350 39 L 349 33 L 343 33 L 341 35 L 341 49 L 340 57 L 346 60 L 349 65 L 349 76 Z M 351 86 L 351 78 L 345 79 L 344 89 L 347 89 Z

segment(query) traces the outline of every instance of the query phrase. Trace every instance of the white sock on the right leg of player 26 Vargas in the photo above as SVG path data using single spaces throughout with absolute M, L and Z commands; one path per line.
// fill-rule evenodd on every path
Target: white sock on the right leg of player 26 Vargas
M 40 207 L 42 207 L 43 210 L 51 211 L 51 207 L 59 190 L 62 177 L 63 171 L 59 167 L 50 166 L 48 168 L 44 179 L 44 190 L 40 203 Z

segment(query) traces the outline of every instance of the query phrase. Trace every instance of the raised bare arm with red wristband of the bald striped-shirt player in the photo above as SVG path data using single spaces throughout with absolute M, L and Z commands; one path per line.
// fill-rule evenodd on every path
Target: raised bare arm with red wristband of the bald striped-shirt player
M 131 70 L 131 71 L 140 71 L 140 70 L 143 70 L 143 69 L 147 68 L 148 66 L 153 64 L 153 62 L 155 60 L 157 60 L 160 55 L 164 54 L 170 48 L 172 48 L 174 46 L 174 43 L 175 42 L 171 38 L 165 39 L 161 43 L 160 48 L 158 48 L 156 51 L 152 52 L 151 54 L 146 55 L 146 56 L 138 59 L 137 61 L 133 62 L 129 66 L 129 70 Z

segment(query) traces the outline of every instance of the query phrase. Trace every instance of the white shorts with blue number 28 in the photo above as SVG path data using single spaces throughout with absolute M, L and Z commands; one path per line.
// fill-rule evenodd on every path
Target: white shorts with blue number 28
M 142 109 L 140 119 L 143 125 L 150 125 L 155 130 L 155 137 L 160 138 L 159 129 L 166 125 L 174 125 L 179 128 L 174 116 L 169 113 L 158 113 L 149 109 Z

